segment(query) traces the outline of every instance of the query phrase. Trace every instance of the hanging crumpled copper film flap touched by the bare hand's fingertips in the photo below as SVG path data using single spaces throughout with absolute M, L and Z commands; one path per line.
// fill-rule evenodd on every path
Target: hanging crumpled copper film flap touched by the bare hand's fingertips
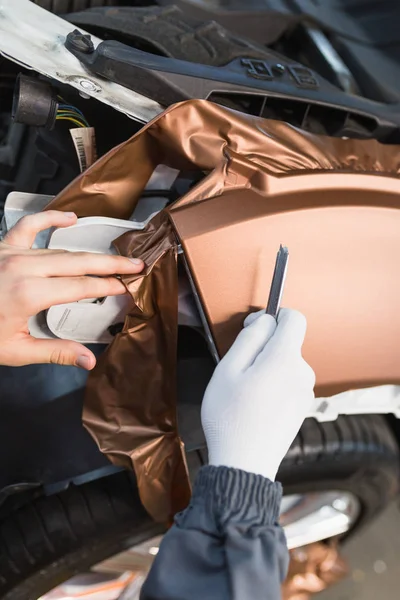
M 146 269 L 124 278 L 134 305 L 88 379 L 83 422 L 113 463 L 134 469 L 148 512 L 168 521 L 190 499 L 176 420 L 177 243 L 162 212 L 114 244 Z

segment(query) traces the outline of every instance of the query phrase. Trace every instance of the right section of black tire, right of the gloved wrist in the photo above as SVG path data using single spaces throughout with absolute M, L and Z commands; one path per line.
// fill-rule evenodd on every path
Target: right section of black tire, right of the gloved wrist
M 399 447 L 381 415 L 340 416 L 326 423 L 306 419 L 278 479 L 286 495 L 352 492 L 361 504 L 353 535 L 398 493 Z

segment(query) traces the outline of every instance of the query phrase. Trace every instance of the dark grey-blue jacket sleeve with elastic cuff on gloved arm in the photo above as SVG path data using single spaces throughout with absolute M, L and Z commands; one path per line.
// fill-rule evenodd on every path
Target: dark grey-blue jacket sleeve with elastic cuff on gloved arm
M 141 600 L 278 600 L 288 567 L 281 497 L 281 485 L 260 475 L 203 467 Z

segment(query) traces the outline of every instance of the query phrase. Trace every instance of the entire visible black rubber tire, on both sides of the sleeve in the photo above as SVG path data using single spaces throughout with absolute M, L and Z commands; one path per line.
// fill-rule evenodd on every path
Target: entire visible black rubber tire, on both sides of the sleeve
M 205 451 L 188 454 L 192 478 Z M 398 490 L 399 451 L 378 415 L 307 419 L 283 461 L 286 494 L 343 489 L 361 503 L 358 530 Z M 0 597 L 36 600 L 62 581 L 160 533 L 127 473 L 70 487 L 19 508 L 0 523 Z

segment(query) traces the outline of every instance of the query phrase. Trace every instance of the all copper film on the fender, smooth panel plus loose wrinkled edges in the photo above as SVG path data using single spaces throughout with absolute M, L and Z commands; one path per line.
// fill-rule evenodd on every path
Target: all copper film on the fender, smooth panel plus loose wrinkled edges
M 116 242 L 144 258 L 135 301 L 90 375 L 84 423 L 116 464 L 133 466 L 159 520 L 189 486 L 176 429 L 178 233 L 217 347 L 265 306 L 276 251 L 291 259 L 284 304 L 309 321 L 305 356 L 321 391 L 400 380 L 397 276 L 400 151 L 317 136 L 203 100 L 172 106 L 73 181 L 49 206 L 129 218 L 158 164 L 207 176 L 143 231 Z

